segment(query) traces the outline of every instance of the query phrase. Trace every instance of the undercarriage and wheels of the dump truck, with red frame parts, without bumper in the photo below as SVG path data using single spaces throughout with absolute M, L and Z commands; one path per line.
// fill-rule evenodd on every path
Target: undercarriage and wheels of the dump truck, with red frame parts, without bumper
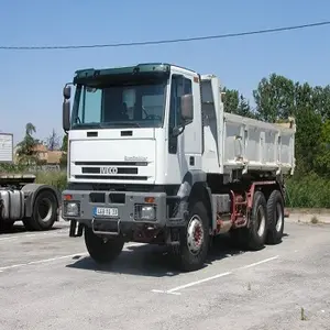
M 87 250 L 99 263 L 113 261 L 125 242 L 168 245 L 178 267 L 187 272 L 202 267 L 212 238 L 218 234 L 229 233 L 234 245 L 243 250 L 280 243 L 285 217 L 283 182 L 243 179 L 223 185 L 221 178 L 209 175 L 207 183 L 195 184 L 187 201 L 167 195 L 165 226 L 151 221 L 136 221 L 133 226 L 102 218 L 78 223 L 73 219 L 69 235 L 81 237 L 85 231 Z M 67 190 L 65 197 L 70 200 L 68 196 L 74 193 L 77 191 Z

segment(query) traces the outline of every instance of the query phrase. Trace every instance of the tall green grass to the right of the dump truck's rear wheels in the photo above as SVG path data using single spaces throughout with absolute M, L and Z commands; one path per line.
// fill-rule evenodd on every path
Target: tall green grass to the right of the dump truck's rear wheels
M 286 180 L 286 206 L 292 208 L 330 208 L 330 180 L 317 174 Z

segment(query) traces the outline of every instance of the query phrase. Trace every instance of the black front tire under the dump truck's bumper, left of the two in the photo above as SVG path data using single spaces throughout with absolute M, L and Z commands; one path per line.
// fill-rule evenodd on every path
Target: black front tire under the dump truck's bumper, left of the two
M 91 258 L 97 263 L 110 263 L 121 253 L 124 240 L 121 237 L 109 238 L 103 241 L 97 237 L 91 228 L 85 227 L 85 244 Z

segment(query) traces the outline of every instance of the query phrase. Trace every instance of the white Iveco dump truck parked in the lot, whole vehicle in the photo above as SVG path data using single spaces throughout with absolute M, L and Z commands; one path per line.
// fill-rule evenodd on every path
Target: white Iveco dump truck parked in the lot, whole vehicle
M 226 113 L 216 76 L 162 63 L 77 70 L 63 92 L 63 218 L 95 261 L 134 241 L 194 271 L 218 234 L 250 250 L 282 241 L 294 121 Z

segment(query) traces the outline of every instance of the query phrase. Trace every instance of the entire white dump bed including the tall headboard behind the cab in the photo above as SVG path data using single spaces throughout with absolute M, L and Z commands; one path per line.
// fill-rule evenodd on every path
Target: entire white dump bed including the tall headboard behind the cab
M 238 168 L 243 173 L 294 173 L 293 119 L 287 123 L 270 123 L 224 112 L 220 82 L 212 75 L 201 76 L 201 112 L 206 173 L 224 174 Z

